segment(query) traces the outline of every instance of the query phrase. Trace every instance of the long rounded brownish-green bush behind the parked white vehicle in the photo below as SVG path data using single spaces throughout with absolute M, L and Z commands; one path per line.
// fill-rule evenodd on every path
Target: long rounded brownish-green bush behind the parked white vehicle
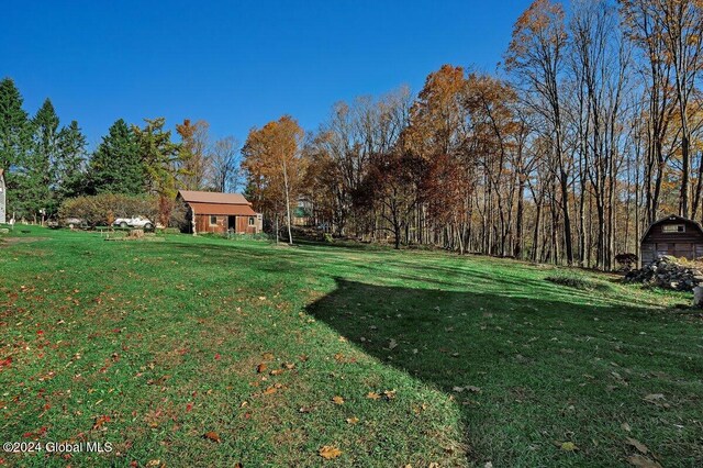
M 111 225 L 115 218 L 146 216 L 156 220 L 158 205 L 155 197 L 103 193 L 65 200 L 58 209 L 62 220 L 78 218 L 89 226 Z

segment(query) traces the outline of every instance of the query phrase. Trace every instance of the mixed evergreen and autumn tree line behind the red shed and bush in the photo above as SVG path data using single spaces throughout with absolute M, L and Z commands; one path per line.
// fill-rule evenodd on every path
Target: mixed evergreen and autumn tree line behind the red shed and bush
M 165 124 L 163 118 L 145 119 L 143 125 L 118 119 L 89 153 L 78 123 L 62 126 L 49 99 L 30 116 L 13 80 L 0 80 L 0 168 L 10 193 L 8 213 L 37 222 L 81 196 L 150 194 L 159 200 L 159 221 L 168 224 L 178 189 L 233 191 L 241 185 L 234 137 L 213 141 L 207 121 L 185 120 L 176 125 L 175 142 Z

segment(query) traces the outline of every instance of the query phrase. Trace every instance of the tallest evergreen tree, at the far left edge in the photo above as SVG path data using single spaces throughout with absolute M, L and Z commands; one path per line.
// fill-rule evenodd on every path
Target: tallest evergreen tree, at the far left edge
M 14 81 L 10 78 L 0 80 L 0 168 L 4 169 L 9 214 L 20 211 L 19 179 L 32 145 L 32 125 L 22 103 Z

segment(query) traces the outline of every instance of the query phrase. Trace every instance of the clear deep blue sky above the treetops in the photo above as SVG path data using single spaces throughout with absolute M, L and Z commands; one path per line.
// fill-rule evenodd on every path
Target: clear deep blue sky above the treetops
M 336 101 L 416 92 L 445 63 L 494 70 L 529 2 L 12 1 L 0 77 L 31 113 L 49 97 L 91 147 L 118 118 L 161 115 L 244 141 L 286 113 L 315 130 Z

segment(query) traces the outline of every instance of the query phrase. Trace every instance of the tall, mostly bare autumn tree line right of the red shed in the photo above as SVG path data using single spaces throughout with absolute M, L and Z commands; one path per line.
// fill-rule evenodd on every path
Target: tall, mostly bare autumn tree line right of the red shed
M 342 236 L 612 269 L 658 218 L 703 220 L 702 41 L 700 0 L 535 0 L 494 74 L 254 129 L 250 193 Z

